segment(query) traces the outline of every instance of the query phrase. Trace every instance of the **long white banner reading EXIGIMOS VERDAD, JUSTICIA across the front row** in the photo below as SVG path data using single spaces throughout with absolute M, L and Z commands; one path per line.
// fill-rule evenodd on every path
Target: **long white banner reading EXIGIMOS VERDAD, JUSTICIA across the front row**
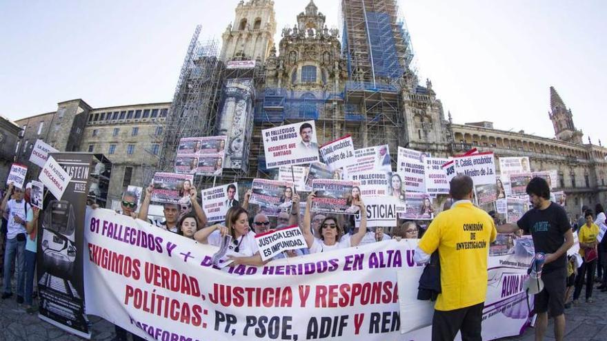
M 219 270 L 218 247 L 110 210 L 89 211 L 85 231 L 87 313 L 148 340 L 430 340 L 416 240 Z M 483 340 L 517 335 L 528 321 L 530 255 L 515 249 L 489 257 Z

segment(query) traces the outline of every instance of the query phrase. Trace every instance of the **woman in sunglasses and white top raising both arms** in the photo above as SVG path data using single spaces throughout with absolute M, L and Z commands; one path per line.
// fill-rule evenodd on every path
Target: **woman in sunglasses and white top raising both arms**
M 341 237 L 344 236 L 344 229 L 339 226 L 336 218 L 327 217 L 324 218 L 319 226 L 320 238 L 315 238 L 314 234 L 312 234 L 312 231 L 310 230 L 310 207 L 312 206 L 312 199 L 315 197 L 315 192 L 310 193 L 308 196 L 308 201 L 306 202 L 306 212 L 304 214 L 304 223 L 301 227 L 301 232 L 304 234 L 304 238 L 306 238 L 306 243 L 308 244 L 308 249 L 310 249 L 310 254 L 358 246 L 367 232 L 367 211 L 363 201 L 361 199 L 356 199 L 352 203 L 352 205 L 357 205 L 361 211 L 361 223 L 356 234 L 353 234 L 350 238 L 344 238 L 342 240 Z

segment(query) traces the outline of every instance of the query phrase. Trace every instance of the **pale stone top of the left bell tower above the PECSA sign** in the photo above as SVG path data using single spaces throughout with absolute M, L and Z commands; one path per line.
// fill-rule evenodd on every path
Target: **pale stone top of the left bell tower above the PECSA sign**
M 221 35 L 222 61 L 258 61 L 263 65 L 274 45 L 276 20 L 274 1 L 241 0 L 233 25 Z

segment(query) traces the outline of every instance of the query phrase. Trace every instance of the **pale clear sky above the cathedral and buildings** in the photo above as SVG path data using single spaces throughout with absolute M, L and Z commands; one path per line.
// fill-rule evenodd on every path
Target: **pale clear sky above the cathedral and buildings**
M 239 0 L 0 1 L 0 114 L 81 98 L 92 107 L 171 101 L 188 43 L 221 39 Z M 277 41 L 309 0 L 275 0 Z M 317 0 L 341 28 L 338 0 Z M 578 129 L 607 145 L 607 1 L 400 0 L 422 80 L 455 123 L 554 136 L 553 85 Z M 422 83 L 425 83 L 422 81 Z

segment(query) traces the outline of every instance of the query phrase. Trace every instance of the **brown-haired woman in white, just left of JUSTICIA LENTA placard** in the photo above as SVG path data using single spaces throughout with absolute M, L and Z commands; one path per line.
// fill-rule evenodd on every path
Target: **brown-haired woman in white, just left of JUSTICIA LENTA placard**
M 226 214 L 226 226 L 215 224 L 205 227 L 194 234 L 197 242 L 221 247 L 224 236 L 232 236 L 228 245 L 228 258 L 234 265 L 254 265 L 261 266 L 265 264 L 259 255 L 257 242 L 255 242 L 255 232 L 249 229 L 249 216 L 246 209 L 240 206 L 233 206 L 228 209 Z M 236 256 L 241 255 L 241 256 Z

